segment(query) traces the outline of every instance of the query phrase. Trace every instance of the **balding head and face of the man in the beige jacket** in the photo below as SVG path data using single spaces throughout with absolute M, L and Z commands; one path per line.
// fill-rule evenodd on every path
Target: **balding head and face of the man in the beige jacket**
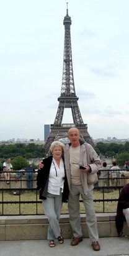
M 72 147 L 78 147 L 80 139 L 79 130 L 76 128 L 69 129 L 68 139 L 70 140 Z

